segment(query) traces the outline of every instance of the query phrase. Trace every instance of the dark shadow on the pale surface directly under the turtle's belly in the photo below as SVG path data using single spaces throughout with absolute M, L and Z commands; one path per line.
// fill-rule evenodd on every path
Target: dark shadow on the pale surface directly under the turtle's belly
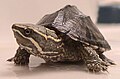
M 31 67 L 32 71 L 51 72 L 51 71 L 85 71 L 86 66 L 83 62 L 57 62 L 57 63 L 41 63 L 37 67 Z

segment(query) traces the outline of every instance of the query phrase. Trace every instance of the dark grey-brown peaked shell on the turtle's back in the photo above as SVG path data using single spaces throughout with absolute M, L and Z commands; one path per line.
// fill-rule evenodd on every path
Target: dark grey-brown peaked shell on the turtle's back
M 45 15 L 38 23 L 65 33 L 71 39 L 110 50 L 110 45 L 89 16 L 75 6 L 67 5 L 53 14 Z

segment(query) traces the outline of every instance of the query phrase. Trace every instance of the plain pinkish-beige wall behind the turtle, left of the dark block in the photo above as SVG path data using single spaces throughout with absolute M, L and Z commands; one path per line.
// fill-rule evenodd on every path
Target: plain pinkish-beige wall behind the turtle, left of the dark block
M 36 23 L 67 4 L 76 5 L 96 21 L 98 0 L 0 0 L 0 43 L 14 43 L 13 23 Z

